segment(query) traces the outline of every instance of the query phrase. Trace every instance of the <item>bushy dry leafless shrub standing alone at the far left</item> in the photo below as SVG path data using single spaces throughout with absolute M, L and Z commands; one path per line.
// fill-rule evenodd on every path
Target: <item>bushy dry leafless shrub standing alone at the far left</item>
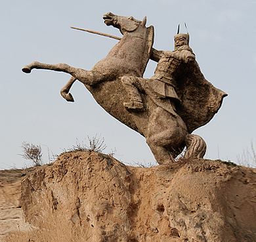
M 23 153 L 20 154 L 24 159 L 28 159 L 32 161 L 33 166 L 38 167 L 40 165 L 43 165 L 42 160 L 42 149 L 41 146 L 37 146 L 35 144 L 30 144 L 28 142 L 22 142 L 22 148 Z

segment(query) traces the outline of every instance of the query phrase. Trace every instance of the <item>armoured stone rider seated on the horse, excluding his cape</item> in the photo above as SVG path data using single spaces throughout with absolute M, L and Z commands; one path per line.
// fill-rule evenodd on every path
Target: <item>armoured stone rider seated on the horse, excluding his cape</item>
M 158 66 L 150 79 L 127 76 L 121 78 L 123 87 L 125 87 L 130 98 L 130 102 L 123 103 L 127 110 L 144 110 L 144 104 L 139 91 L 144 92 L 145 90 L 148 90 L 153 102 L 177 116 L 175 104 L 181 102 L 176 92 L 177 77 L 181 75 L 185 64 L 194 62 L 195 54 L 188 46 L 188 33 L 178 33 L 174 36 L 174 39 L 174 51 L 155 49 L 152 51 L 150 58 L 158 62 Z M 169 99 L 171 105 L 161 104 L 163 103 L 163 98 Z

